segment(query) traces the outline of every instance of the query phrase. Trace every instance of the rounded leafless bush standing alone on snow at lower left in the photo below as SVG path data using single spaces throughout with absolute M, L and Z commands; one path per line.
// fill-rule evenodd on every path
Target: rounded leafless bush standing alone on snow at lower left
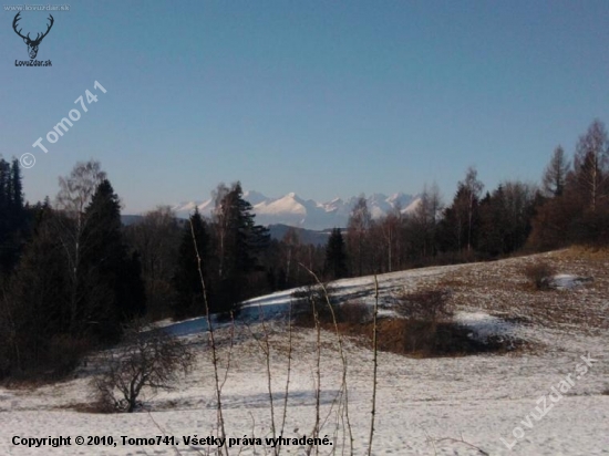
M 192 365 L 189 349 L 163 330 L 130 328 L 124 343 L 103 357 L 106 371 L 94 380 L 102 408 L 134 412 L 144 388 L 172 390 L 178 373 Z

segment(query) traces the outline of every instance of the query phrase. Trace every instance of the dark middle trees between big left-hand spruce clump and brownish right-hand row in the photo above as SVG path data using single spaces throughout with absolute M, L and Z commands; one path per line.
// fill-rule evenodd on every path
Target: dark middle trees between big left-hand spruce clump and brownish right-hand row
M 158 207 L 125 227 L 128 243 L 141 255 L 155 318 L 200 314 L 200 276 L 210 311 L 226 314 L 247 298 L 310 283 L 300 265 L 323 271 L 323 247 L 302 243 L 295 229 L 270 239 L 268 229 L 255 222 L 239 183 L 220 184 L 213 197 L 210 218 L 195 210 L 189 220 L 179 220 L 168 207 Z

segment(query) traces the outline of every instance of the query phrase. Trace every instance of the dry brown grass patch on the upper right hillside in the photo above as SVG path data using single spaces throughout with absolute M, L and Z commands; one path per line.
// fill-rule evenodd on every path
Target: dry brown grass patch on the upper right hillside
M 547 262 L 557 273 L 592 277 L 572 290 L 539 293 L 522 273 L 527 265 Z M 468 265 L 437 282 L 450 283 L 461 309 L 483 309 L 503 318 L 518 318 L 546 328 L 577 328 L 587 334 L 609 330 L 609 250 L 571 248 L 504 261 Z

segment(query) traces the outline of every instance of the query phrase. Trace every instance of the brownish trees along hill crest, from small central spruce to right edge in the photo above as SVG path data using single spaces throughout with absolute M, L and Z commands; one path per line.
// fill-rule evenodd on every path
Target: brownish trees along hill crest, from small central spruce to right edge
M 396 207 L 388 216 L 372 219 L 365 198 L 360 197 L 345 236 L 332 232 L 327 249 L 328 278 L 484 260 L 524 248 L 607 243 L 609 141 L 605 125 L 593 121 L 579 137 L 572 166 L 564 148 L 557 146 L 540 186 L 507 180 L 491 191 L 483 190 L 476 169 L 471 167 L 448 205 L 434 185 L 423 189 L 412 213 Z

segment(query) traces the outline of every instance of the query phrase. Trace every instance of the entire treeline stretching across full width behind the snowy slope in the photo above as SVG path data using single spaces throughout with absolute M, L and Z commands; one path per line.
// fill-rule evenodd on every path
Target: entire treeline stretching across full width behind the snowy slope
M 595 121 L 572 162 L 558 146 L 539 186 L 484 191 L 467 169 L 445 205 L 435 185 L 414 210 L 373 219 L 362 196 L 324 247 L 290 229 L 271 240 L 241 185 L 220 184 L 209 218 L 167 207 L 121 224 L 97 162 L 79 163 L 59 193 L 24 203 L 19 162 L 0 159 L 0 377 L 69 372 L 87 350 L 120 340 L 131 319 L 238 312 L 244 300 L 321 280 L 494 259 L 609 241 L 609 141 Z

